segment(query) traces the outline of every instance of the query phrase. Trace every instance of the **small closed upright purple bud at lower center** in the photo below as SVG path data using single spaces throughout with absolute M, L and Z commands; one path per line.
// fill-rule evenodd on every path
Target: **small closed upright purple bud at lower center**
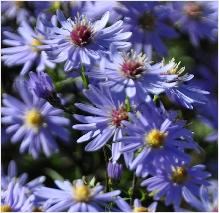
M 122 164 L 109 162 L 107 165 L 107 174 L 111 181 L 119 181 L 122 176 Z

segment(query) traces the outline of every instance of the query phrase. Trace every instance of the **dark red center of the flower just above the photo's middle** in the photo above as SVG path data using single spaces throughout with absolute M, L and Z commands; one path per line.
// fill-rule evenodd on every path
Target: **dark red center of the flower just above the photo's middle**
M 139 62 L 136 62 L 134 60 L 127 60 L 123 63 L 121 67 L 122 72 L 127 77 L 136 77 L 136 75 L 142 73 L 142 65 Z

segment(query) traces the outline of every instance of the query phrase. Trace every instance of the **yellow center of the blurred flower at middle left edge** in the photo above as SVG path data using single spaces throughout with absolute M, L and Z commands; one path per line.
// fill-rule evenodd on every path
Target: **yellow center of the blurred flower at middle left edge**
M 39 128 L 42 126 L 43 116 L 38 110 L 32 109 L 26 113 L 25 122 L 31 128 Z

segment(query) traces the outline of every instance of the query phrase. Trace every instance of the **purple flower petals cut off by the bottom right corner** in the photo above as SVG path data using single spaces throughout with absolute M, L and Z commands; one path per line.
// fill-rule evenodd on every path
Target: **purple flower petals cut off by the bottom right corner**
M 188 189 L 184 189 L 183 195 L 187 203 L 201 212 L 218 212 L 218 184 L 217 181 L 210 182 L 209 187 L 201 186 L 199 198 L 194 196 Z M 176 211 L 188 211 L 176 208 Z

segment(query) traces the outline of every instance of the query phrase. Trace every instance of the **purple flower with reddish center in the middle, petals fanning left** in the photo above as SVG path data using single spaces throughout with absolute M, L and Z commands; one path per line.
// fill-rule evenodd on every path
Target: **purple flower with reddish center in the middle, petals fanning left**
M 118 139 L 122 137 L 122 121 L 128 120 L 128 112 L 124 104 L 124 99 L 113 96 L 108 87 L 98 89 L 91 85 L 89 86 L 89 90 L 84 91 L 84 95 L 92 105 L 76 103 L 75 106 L 92 115 L 74 115 L 74 118 L 82 122 L 82 124 L 76 124 L 73 128 L 86 132 L 77 142 L 90 141 L 85 147 L 85 150 L 95 151 L 103 147 L 113 137 L 113 144 L 120 146 Z M 114 151 L 115 156 L 113 157 L 113 161 L 118 159 L 117 148 Z

